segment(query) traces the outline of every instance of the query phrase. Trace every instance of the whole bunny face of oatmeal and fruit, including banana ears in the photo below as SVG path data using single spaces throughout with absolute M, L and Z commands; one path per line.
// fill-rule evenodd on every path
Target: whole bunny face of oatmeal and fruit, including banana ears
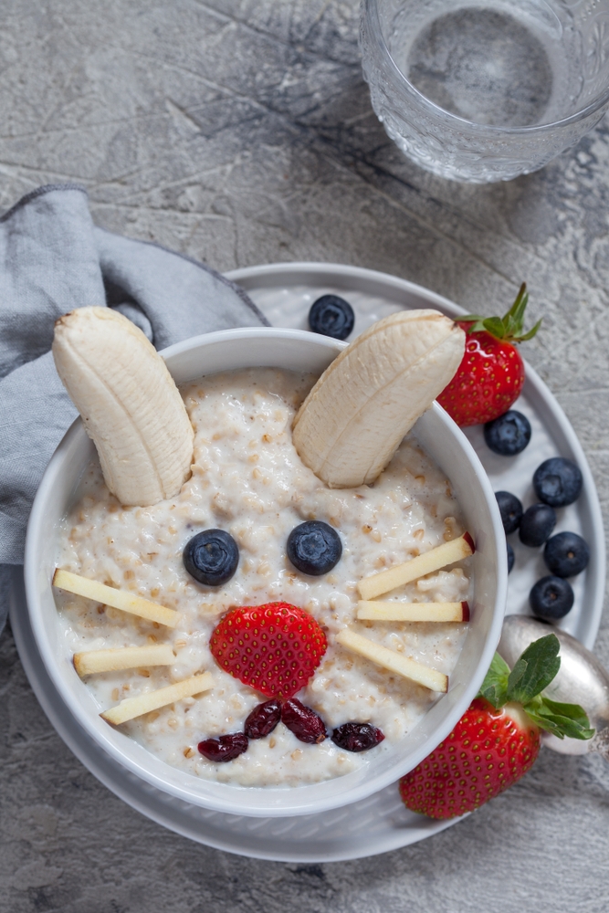
M 109 725 L 241 786 L 341 776 L 413 729 L 466 635 L 474 543 L 407 433 L 463 337 L 401 311 L 318 380 L 252 368 L 178 391 L 121 315 L 58 320 L 58 373 L 100 464 L 53 582 Z

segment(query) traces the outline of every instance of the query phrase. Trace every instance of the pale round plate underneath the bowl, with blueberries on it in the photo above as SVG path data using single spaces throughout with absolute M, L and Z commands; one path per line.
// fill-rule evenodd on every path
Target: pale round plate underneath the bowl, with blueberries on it
M 403 308 L 433 307 L 451 317 L 463 313 L 433 292 L 367 269 L 331 264 L 276 264 L 236 270 L 229 278 L 247 289 L 275 326 L 307 329 L 310 305 L 329 292 L 342 294 L 352 303 L 356 313 L 353 336 L 375 320 Z M 517 405 L 533 426 L 530 446 L 520 456 L 505 458 L 492 454 L 484 444 L 480 428 L 470 429 L 467 434 L 494 488 L 513 491 L 525 506 L 532 502 L 530 477 L 543 459 L 568 456 L 581 467 L 583 495 L 575 505 L 561 512 L 557 529 L 582 532 L 590 543 L 592 560 L 588 570 L 575 581 L 576 602 L 562 627 L 592 647 L 604 593 L 604 533 L 593 479 L 566 416 L 530 368 Z M 518 540 L 513 545 L 516 567 L 510 575 L 508 611 L 526 612 L 530 586 L 543 573 L 541 552 L 524 549 Z M 332 812 L 279 819 L 208 812 L 176 800 L 112 761 L 68 713 L 38 656 L 25 611 L 23 582 L 18 575 L 12 590 L 11 624 L 26 675 L 48 719 L 68 747 L 112 792 L 178 834 L 241 855 L 314 863 L 384 853 L 436 834 L 458 820 L 434 822 L 408 812 L 394 786 Z

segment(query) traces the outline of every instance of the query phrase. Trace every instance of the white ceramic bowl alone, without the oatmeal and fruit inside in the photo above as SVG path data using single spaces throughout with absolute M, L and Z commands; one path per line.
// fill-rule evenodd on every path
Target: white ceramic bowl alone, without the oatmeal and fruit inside
M 234 368 L 268 366 L 321 373 L 345 343 L 298 330 L 247 328 L 209 333 L 166 349 L 177 383 Z M 473 558 L 472 618 L 463 650 L 439 698 L 415 729 L 388 750 L 338 779 L 298 788 L 244 788 L 201 780 L 170 767 L 100 719 L 100 708 L 80 681 L 59 637 L 51 578 L 58 555 L 58 525 L 68 512 L 94 447 L 77 420 L 42 479 L 26 540 L 25 579 L 32 629 L 47 672 L 67 707 L 100 748 L 158 789 L 219 812 L 258 816 L 323 812 L 383 789 L 443 740 L 475 697 L 499 642 L 507 593 L 505 535 L 488 477 L 457 425 L 434 404 L 415 426 L 427 453 L 443 468 L 477 543 Z

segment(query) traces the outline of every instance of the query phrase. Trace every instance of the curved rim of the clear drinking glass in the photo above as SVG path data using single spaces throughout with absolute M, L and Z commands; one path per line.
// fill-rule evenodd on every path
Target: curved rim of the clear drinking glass
M 478 132 L 490 132 L 497 134 L 508 134 L 508 135 L 518 135 L 520 133 L 542 133 L 545 131 L 551 131 L 557 127 L 565 127 L 571 123 L 576 123 L 577 121 L 583 121 L 586 117 L 589 117 L 595 111 L 602 108 L 607 102 L 609 102 L 609 84 L 604 90 L 604 94 L 599 95 L 597 99 L 590 102 L 586 105 L 585 108 L 575 111 L 573 114 L 570 114 L 568 117 L 562 118 L 560 121 L 548 121 L 548 123 L 539 123 L 539 124 L 530 124 L 530 126 L 523 125 L 521 127 L 501 127 L 498 124 L 485 124 L 477 123 L 476 121 L 468 121 L 467 118 L 459 117 L 458 114 L 453 114 L 452 111 L 442 108 L 440 105 L 436 105 L 436 102 L 428 99 L 423 92 L 419 91 L 415 85 L 408 79 L 402 70 L 397 66 L 392 57 L 389 47 L 385 41 L 383 35 L 383 27 L 381 26 L 381 17 L 379 16 L 378 10 L 378 0 L 363 0 L 363 13 L 362 16 L 366 15 L 366 12 L 370 12 L 371 18 L 370 23 L 373 27 L 374 37 L 378 46 L 381 48 L 381 53 L 383 58 L 389 64 L 389 67 L 392 71 L 394 78 L 397 78 L 398 82 L 406 89 L 406 91 L 412 93 L 416 100 L 423 105 L 424 108 L 430 110 L 434 114 L 442 114 L 446 118 L 449 118 L 451 121 L 456 123 L 465 124 L 472 131 Z

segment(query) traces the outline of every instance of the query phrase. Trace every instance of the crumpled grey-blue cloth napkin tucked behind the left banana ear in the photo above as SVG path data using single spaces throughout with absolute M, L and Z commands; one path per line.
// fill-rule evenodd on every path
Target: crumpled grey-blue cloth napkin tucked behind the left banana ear
M 94 226 L 76 184 L 40 187 L 0 218 L 0 631 L 40 478 L 78 415 L 49 351 L 53 325 L 88 305 L 120 310 L 157 349 L 268 326 L 243 289 L 214 270 Z

